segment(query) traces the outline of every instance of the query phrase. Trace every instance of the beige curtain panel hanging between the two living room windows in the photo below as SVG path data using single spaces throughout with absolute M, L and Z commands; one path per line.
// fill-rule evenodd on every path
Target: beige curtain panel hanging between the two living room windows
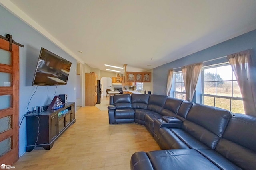
M 181 68 L 186 90 L 186 100 L 192 101 L 196 91 L 196 84 L 200 75 L 203 63 L 191 64 Z

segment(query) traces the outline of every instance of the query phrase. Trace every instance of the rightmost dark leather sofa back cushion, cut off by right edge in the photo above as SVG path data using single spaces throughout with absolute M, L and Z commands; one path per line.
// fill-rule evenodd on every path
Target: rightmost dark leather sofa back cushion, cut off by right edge
M 242 169 L 256 167 L 256 117 L 234 114 L 216 151 Z

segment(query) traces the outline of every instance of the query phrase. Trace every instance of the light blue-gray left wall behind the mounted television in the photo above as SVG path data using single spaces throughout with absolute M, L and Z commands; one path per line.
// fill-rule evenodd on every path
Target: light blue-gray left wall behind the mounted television
M 14 41 L 24 45 L 24 48 L 20 47 L 20 119 L 27 112 L 28 102 L 36 90 L 36 87 L 31 84 L 41 47 L 72 62 L 68 83 L 65 86 L 57 86 L 56 95 L 68 94 L 68 101 L 76 101 L 76 91 L 74 90 L 76 87 L 76 59 L 0 6 L 0 35 L 6 36 L 6 34 L 12 35 Z M 56 86 L 38 86 L 28 109 L 31 111 L 34 106 L 50 104 L 55 88 Z M 19 131 L 19 155 L 21 156 L 24 152 L 26 152 L 26 118 L 24 118 Z

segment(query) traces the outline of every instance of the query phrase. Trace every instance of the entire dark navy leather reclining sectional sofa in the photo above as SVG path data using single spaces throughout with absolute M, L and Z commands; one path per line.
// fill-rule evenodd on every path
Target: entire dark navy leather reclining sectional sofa
M 145 125 L 163 149 L 134 153 L 131 170 L 256 167 L 256 117 L 147 94 L 111 96 L 108 109 L 110 123 Z

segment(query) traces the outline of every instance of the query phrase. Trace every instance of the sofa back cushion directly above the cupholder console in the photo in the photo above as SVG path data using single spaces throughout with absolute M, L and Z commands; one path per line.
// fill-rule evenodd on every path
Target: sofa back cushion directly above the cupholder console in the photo
M 176 98 L 168 98 L 161 111 L 162 116 L 176 116 L 183 100 Z

